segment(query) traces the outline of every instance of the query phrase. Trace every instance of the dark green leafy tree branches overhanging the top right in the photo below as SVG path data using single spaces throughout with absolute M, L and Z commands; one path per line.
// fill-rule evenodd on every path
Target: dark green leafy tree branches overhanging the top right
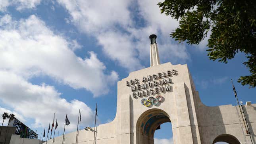
M 255 0 L 165 0 L 158 3 L 161 13 L 179 20 L 170 34 L 179 42 L 199 44 L 208 31 L 210 60 L 227 63 L 238 52 L 248 61 L 243 64 L 251 75 L 242 76 L 242 85 L 256 86 L 256 1 Z

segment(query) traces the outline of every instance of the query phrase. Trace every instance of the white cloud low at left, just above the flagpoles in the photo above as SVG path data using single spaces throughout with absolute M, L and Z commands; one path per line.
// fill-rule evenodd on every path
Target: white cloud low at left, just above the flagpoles
M 35 119 L 29 127 L 48 126 L 52 123 L 53 113 L 56 113 L 59 127 L 64 127 L 65 115 L 71 124 L 67 130 L 75 129 L 78 110 L 81 109 L 82 123 L 88 125 L 93 121 L 93 112 L 84 102 L 71 100 L 67 102 L 60 93 L 46 84 L 35 85 L 10 71 L 0 71 L 1 102 L 8 104 L 13 111 L 0 108 L 0 113 L 14 113 L 21 122 L 25 119 Z M 24 123 L 25 124 L 25 123 Z

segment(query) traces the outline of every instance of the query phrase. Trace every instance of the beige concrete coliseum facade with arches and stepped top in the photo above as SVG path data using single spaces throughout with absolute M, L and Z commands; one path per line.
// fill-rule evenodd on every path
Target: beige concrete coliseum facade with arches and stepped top
M 147 107 L 150 102 L 142 98 L 151 96 L 149 101 L 156 105 Z M 154 99 L 157 96 L 161 102 Z M 256 105 L 243 110 L 248 127 L 238 106 L 209 107 L 200 101 L 187 65 L 155 65 L 131 72 L 117 83 L 115 119 L 96 128 L 96 144 L 153 144 L 154 131 L 166 122 L 172 124 L 174 144 L 256 143 Z M 79 131 L 78 144 L 93 144 L 93 134 L 93 129 Z M 66 134 L 64 144 L 75 144 L 75 138 L 76 132 Z M 62 136 L 54 144 L 62 144 Z

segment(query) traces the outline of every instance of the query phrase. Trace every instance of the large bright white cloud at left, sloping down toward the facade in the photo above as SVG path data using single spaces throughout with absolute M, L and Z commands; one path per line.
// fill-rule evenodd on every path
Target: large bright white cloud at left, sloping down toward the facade
M 94 52 L 89 52 L 88 58 L 77 57 L 73 50 L 81 46 L 55 35 L 35 15 L 3 25 L 0 33 L 0 69 L 25 79 L 48 75 L 73 88 L 85 88 L 94 96 L 107 94 L 106 83 L 118 79 L 115 71 L 104 73 L 106 66 Z

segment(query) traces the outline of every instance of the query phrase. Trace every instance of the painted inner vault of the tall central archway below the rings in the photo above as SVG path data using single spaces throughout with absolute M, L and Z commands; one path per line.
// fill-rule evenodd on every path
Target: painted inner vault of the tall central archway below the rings
M 154 144 L 154 132 L 162 124 L 171 122 L 162 109 L 149 109 L 141 114 L 136 124 L 137 144 Z

